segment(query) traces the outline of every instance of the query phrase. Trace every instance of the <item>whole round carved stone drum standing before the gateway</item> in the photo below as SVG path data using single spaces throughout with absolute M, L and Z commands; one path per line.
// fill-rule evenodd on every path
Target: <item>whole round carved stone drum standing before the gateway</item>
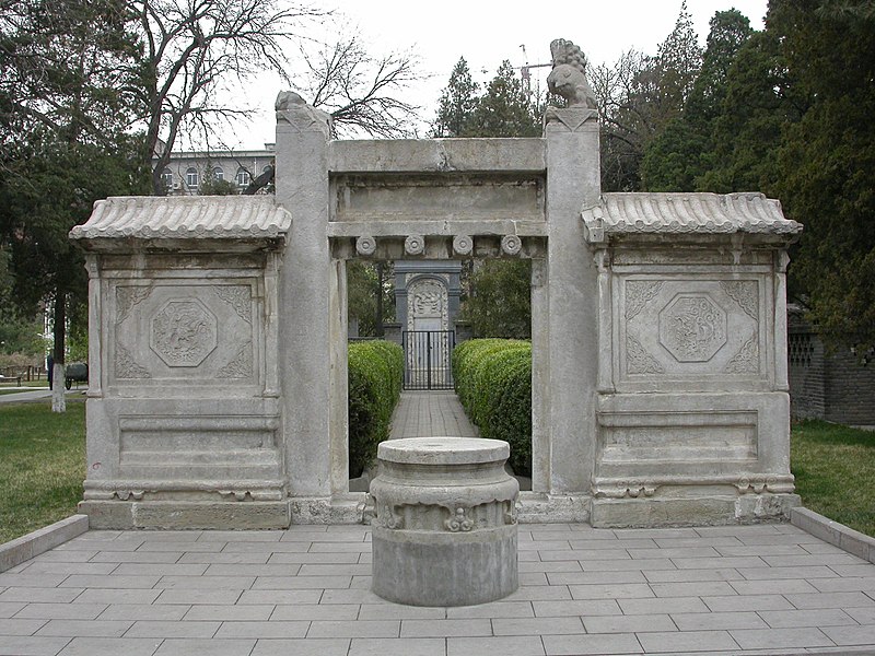
M 516 497 L 499 440 L 415 437 L 380 445 L 371 483 L 373 589 L 411 606 L 470 606 L 517 588 Z

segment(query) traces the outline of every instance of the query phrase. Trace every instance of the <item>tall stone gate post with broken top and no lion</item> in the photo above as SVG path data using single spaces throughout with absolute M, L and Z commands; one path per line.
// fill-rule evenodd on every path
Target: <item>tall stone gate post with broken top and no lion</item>
M 346 321 L 342 263 L 332 262 L 328 247 L 329 124 L 298 94 L 277 98 L 277 202 L 291 212 L 292 227 L 280 276 L 276 356 L 285 477 L 292 522 L 299 523 L 330 519 L 330 499 L 341 484 L 332 453 L 346 448 L 347 395 L 338 389 L 346 376 L 330 374 L 346 358 Z

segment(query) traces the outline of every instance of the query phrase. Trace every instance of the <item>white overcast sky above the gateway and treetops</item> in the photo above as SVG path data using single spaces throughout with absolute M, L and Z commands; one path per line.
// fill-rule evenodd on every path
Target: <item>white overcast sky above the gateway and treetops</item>
M 680 10 L 680 0 L 315 0 L 313 4 L 336 10 L 374 55 L 410 50 L 419 58 L 421 70 L 430 77 L 408 93 L 423 106 L 425 124 L 434 118 L 438 97 L 459 57 L 465 57 L 476 81 L 486 82 L 504 59 L 514 67 L 549 63 L 555 38 L 574 42 L 596 65 L 612 62 L 630 48 L 653 55 L 674 28 Z M 734 7 L 750 19 L 755 30 L 762 30 L 766 5 L 767 0 L 687 0 L 702 46 L 715 11 Z M 537 70 L 544 86 L 549 68 Z M 249 106 L 261 109 L 250 125 L 223 130 L 228 145 L 260 149 L 275 140 L 272 106 L 281 86 L 270 75 L 247 85 Z M 423 125 L 423 134 L 425 129 Z

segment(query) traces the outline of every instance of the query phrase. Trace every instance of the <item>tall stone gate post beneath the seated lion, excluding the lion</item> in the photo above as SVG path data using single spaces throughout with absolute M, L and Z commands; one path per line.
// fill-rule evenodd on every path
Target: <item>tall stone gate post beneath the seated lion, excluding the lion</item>
M 595 460 L 598 270 L 585 245 L 581 208 L 600 195 L 597 113 L 548 109 L 547 267 L 550 399 L 549 489 L 586 495 Z M 542 354 L 537 353 L 536 358 Z M 580 508 L 571 509 L 580 519 Z

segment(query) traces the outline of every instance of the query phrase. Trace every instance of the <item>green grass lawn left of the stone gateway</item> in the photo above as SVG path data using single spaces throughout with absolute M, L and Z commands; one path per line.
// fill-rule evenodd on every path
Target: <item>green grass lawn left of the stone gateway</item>
M 0 406 L 0 543 L 75 513 L 85 480 L 85 403 Z

